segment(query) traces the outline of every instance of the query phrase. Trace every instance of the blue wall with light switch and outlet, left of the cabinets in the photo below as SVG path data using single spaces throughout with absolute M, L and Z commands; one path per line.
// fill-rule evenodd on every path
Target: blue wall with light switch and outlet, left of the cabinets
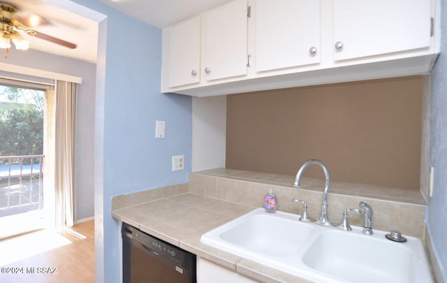
M 96 282 L 120 282 L 112 196 L 187 182 L 191 98 L 160 93 L 161 29 L 99 1 L 73 2 L 107 16 L 99 24 L 96 86 Z M 154 138 L 157 119 L 166 121 L 165 139 Z M 185 170 L 172 172 L 171 157 L 177 154 L 184 154 Z

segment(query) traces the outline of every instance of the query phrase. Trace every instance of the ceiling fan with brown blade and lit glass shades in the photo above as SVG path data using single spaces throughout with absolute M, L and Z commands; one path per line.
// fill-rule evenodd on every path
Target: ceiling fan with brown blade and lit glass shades
M 42 34 L 30 28 L 40 24 L 49 24 L 49 21 L 45 18 L 38 15 L 29 18 L 20 18 L 17 15 L 17 10 L 17 7 L 9 3 L 0 2 L 0 48 L 6 49 L 6 58 L 11 47 L 10 41 L 13 41 L 15 49 L 17 50 L 27 50 L 29 48 L 29 41 L 20 34 L 22 31 L 29 36 L 35 36 L 36 38 L 41 38 L 45 41 L 65 46 L 66 48 L 76 48 L 74 43 Z

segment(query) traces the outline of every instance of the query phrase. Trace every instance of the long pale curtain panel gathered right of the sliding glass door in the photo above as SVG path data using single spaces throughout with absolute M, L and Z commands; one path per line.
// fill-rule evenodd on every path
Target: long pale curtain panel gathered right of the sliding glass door
M 74 82 L 56 81 L 54 186 L 56 226 L 76 223 L 76 94 Z

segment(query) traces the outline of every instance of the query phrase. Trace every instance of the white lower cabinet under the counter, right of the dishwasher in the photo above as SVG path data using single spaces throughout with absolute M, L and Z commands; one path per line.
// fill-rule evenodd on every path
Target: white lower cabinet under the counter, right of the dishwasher
M 249 277 L 240 275 L 233 270 L 198 257 L 197 259 L 197 282 L 198 283 L 255 283 Z

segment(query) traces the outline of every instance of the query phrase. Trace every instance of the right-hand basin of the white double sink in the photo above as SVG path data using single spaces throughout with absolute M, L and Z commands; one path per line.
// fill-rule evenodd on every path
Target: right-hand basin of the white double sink
M 392 242 L 379 231 L 372 236 L 323 231 L 303 253 L 302 263 L 348 282 L 427 282 L 418 280 L 416 270 L 423 265 L 413 255 L 411 248 L 418 250 L 413 244 Z

